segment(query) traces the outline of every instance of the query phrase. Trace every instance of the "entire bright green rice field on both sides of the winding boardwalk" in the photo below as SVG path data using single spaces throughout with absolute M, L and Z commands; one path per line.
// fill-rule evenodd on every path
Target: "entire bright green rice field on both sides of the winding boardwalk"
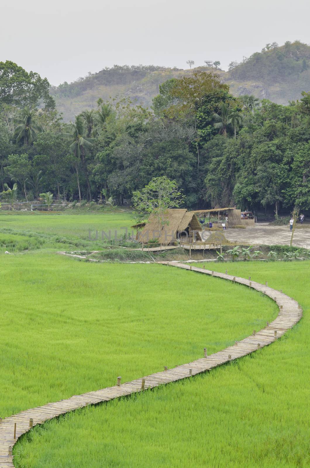
M 219 278 L 55 253 L 89 247 L 88 229 L 130 226 L 130 218 L 0 213 L 0 417 L 189 362 L 204 347 L 211 354 L 277 315 L 263 294 Z M 14 255 L 3 253 L 8 241 Z M 36 426 L 14 446 L 16 467 L 310 465 L 310 262 L 212 265 L 282 289 L 303 307 L 302 320 L 207 374 Z

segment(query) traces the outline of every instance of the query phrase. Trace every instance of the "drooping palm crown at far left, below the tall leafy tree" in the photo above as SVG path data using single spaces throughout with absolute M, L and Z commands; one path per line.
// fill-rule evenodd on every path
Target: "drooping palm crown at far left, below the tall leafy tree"
M 15 123 L 16 143 L 23 142 L 24 145 L 31 145 L 37 137 L 37 133 L 43 132 L 42 126 L 37 122 L 36 111 L 24 107 L 18 114 Z

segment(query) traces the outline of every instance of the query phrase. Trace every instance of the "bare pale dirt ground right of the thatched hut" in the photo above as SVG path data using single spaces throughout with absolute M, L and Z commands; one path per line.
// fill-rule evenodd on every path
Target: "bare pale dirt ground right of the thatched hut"
M 292 233 L 289 226 L 273 226 L 268 223 L 256 223 L 255 227 L 246 229 L 226 229 L 226 239 L 247 245 L 289 245 Z M 310 249 L 310 224 L 296 226 L 293 245 Z

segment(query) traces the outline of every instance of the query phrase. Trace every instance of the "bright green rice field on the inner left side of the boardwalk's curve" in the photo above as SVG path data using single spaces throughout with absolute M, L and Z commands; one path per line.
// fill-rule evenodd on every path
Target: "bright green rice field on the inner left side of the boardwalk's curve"
M 242 286 L 162 265 L 41 253 L 0 261 L 1 417 L 189 362 L 276 314 L 254 291 L 249 306 Z

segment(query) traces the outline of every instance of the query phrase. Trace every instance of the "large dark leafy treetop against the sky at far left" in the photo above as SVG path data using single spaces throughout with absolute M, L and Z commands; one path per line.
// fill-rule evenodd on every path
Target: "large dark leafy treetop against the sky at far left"
M 0 104 L 13 104 L 19 108 L 36 107 L 40 99 L 51 107 L 50 83 L 38 73 L 26 72 L 21 66 L 7 60 L 0 62 Z

